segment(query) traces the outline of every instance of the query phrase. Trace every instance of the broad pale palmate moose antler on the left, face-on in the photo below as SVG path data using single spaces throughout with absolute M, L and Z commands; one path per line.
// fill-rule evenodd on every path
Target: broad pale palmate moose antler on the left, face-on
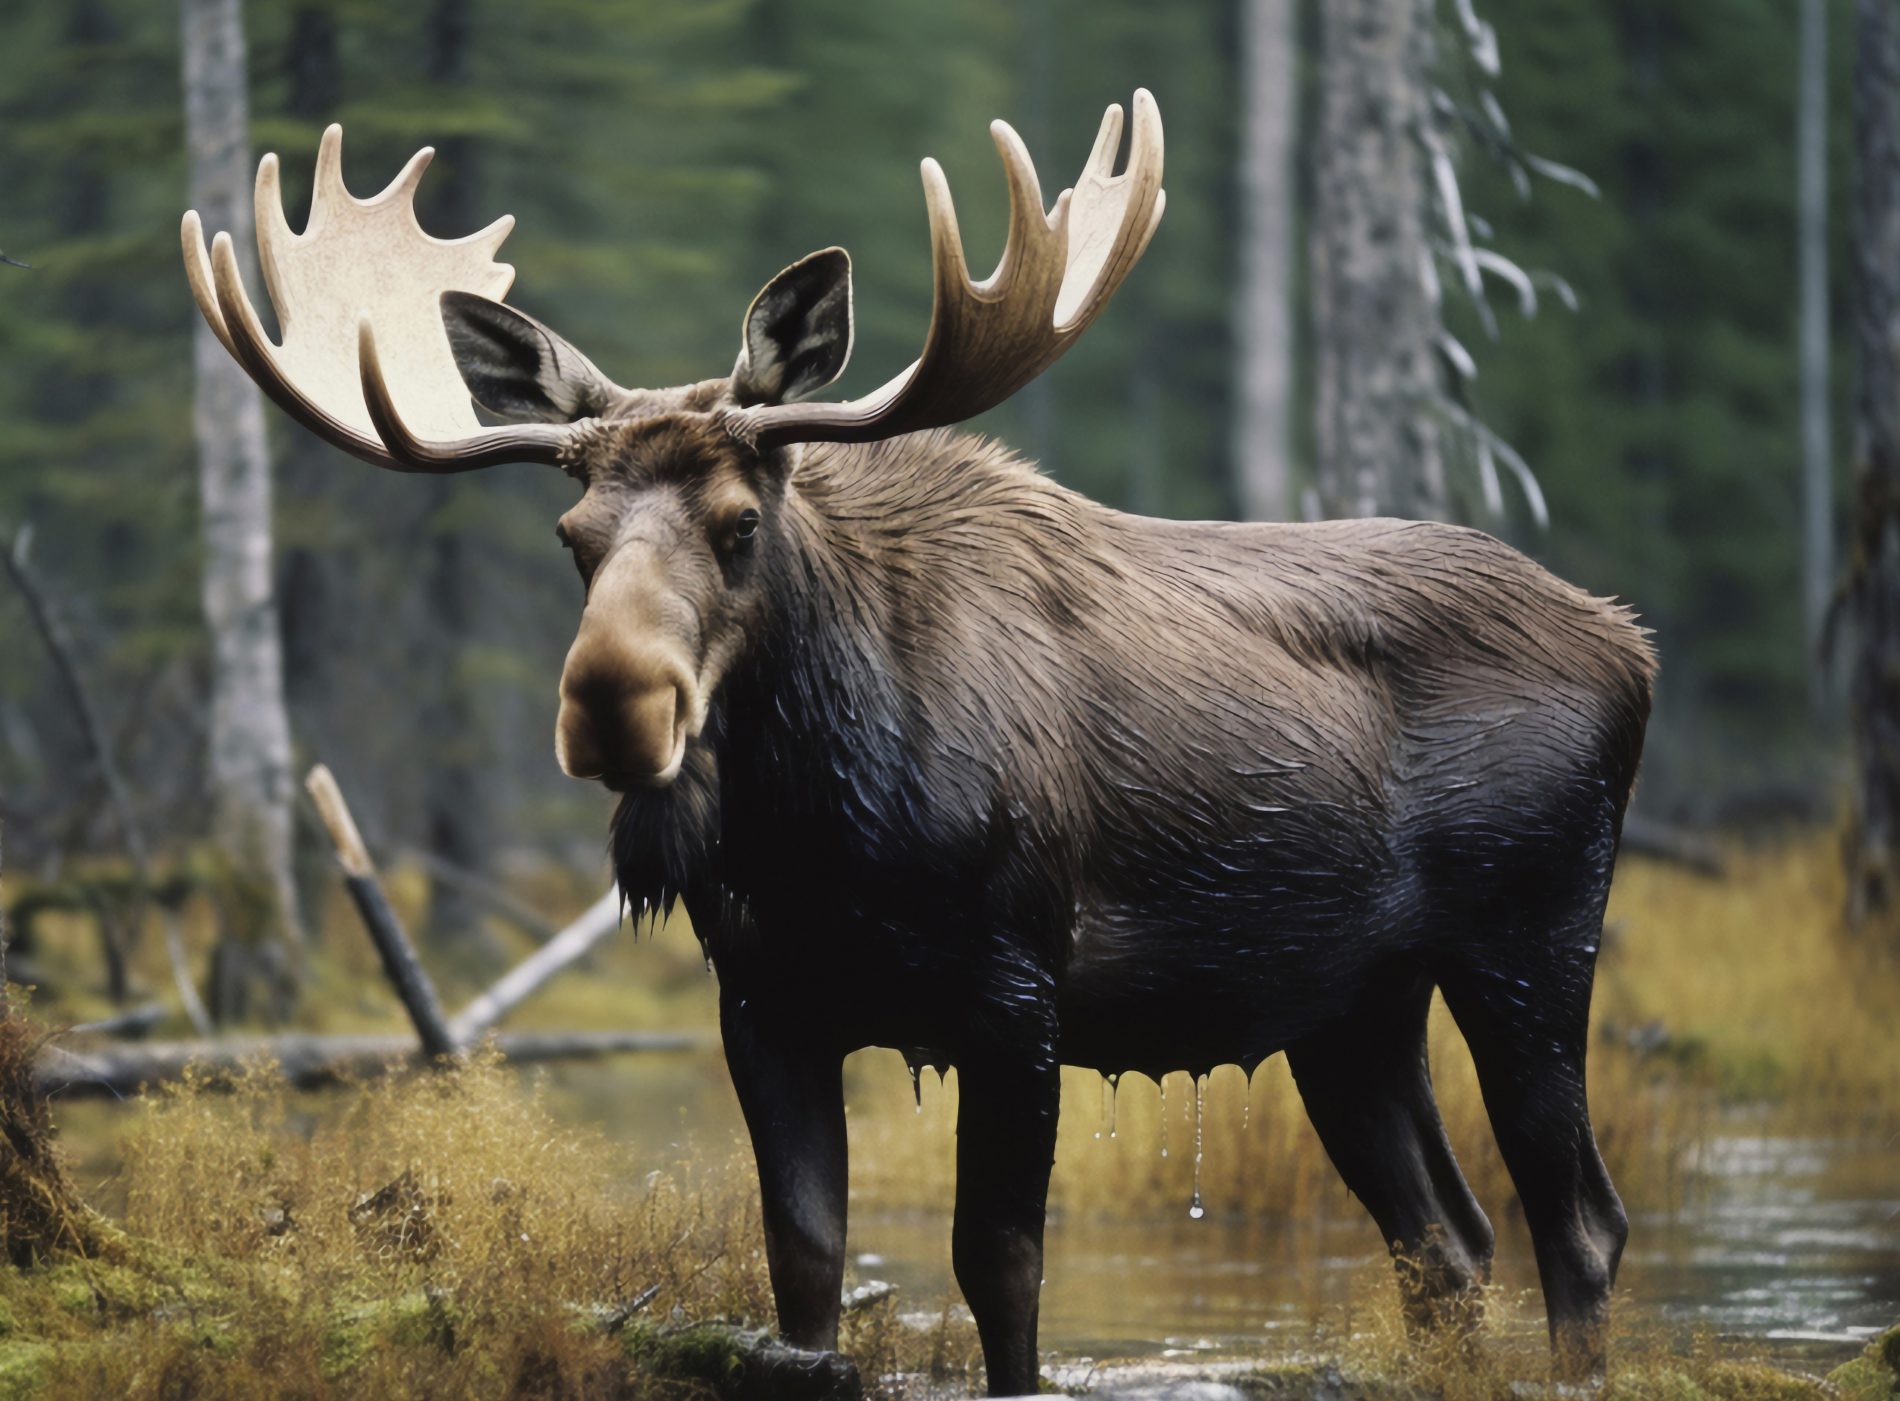
M 365 462 L 397 471 L 555 462 L 566 426 L 481 426 L 443 325 L 445 291 L 507 295 L 515 270 L 494 253 L 513 215 L 467 238 L 431 238 L 414 198 L 435 152 L 424 146 L 382 194 L 357 200 L 344 186 L 342 141 L 340 125 L 323 133 L 302 234 L 283 217 L 277 158 L 256 169 L 258 262 L 281 346 L 245 293 L 232 236 L 220 232 L 207 255 L 198 211 L 184 215 L 184 272 L 211 331 L 285 413 Z

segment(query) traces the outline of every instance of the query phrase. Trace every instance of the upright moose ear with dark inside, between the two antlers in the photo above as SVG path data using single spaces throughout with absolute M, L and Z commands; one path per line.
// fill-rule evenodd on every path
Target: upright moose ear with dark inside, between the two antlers
M 741 407 L 806 399 L 851 359 L 851 255 L 819 249 L 766 283 L 732 369 Z

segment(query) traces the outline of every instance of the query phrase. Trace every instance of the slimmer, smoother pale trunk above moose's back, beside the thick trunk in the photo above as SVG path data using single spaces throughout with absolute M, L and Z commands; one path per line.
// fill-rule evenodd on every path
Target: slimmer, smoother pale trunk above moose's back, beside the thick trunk
M 1233 466 L 1241 515 L 1294 513 L 1294 127 L 1298 0 L 1241 2 L 1241 374 Z

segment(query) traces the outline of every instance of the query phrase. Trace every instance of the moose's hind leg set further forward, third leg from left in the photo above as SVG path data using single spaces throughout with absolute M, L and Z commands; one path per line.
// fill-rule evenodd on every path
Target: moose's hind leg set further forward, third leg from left
M 1492 1222 L 1444 1137 L 1425 1061 L 1431 983 L 1408 981 L 1286 1051 L 1307 1118 L 1398 1264 L 1406 1323 L 1474 1327 Z

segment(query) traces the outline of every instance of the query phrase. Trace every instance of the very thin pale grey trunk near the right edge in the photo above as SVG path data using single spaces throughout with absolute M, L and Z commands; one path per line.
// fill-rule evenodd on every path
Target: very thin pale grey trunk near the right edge
M 1814 713 L 1826 715 L 1822 631 L 1834 593 L 1834 447 L 1828 426 L 1828 0 L 1801 0 L 1796 211 L 1801 287 L 1801 603 Z

